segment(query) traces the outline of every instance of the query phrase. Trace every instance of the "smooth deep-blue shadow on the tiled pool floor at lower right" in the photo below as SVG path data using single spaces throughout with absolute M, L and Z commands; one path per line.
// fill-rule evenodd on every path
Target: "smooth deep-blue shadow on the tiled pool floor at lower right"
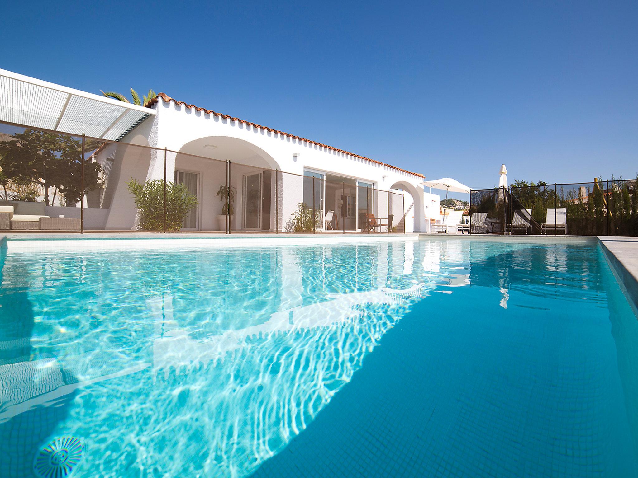
M 609 314 L 498 300 L 422 300 L 252 478 L 638 476 Z

